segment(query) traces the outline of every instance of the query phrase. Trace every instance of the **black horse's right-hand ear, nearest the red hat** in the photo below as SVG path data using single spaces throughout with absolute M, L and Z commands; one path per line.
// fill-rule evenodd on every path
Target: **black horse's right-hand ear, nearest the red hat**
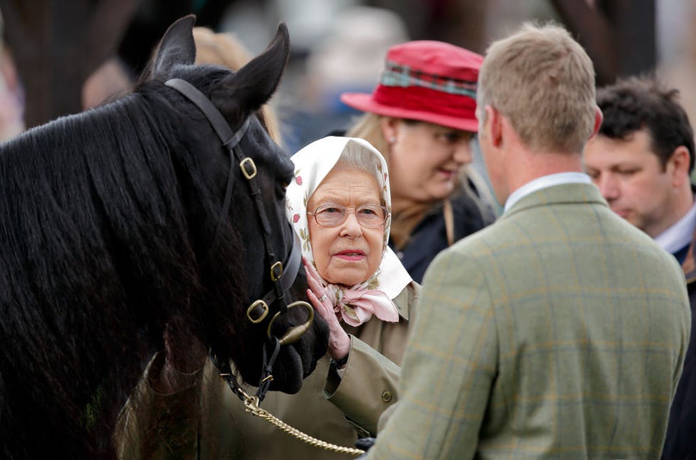
M 214 97 L 219 96 L 219 100 L 214 102 L 222 106 L 229 103 L 240 104 L 239 108 L 244 111 L 260 109 L 276 92 L 289 54 L 288 27 L 285 23 L 280 23 L 276 36 L 268 44 L 268 48 L 230 76 L 224 87 L 219 88 L 214 94 Z M 229 97 L 231 92 L 235 94 L 234 98 Z

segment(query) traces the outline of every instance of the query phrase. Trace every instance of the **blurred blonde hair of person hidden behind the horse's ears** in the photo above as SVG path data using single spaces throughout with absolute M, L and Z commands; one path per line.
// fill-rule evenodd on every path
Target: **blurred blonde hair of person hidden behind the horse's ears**
M 239 70 L 251 60 L 251 54 L 237 38 L 229 33 L 215 33 L 206 27 L 193 28 L 196 43 L 196 64 L 212 64 Z M 278 116 L 268 104 L 261 107 L 268 134 L 273 141 L 281 143 L 281 128 Z

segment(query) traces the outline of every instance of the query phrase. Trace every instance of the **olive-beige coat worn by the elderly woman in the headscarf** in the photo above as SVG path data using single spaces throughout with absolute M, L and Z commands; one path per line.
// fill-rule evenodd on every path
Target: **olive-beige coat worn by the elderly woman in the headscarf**
M 373 317 L 346 327 L 351 349 L 342 378 L 325 356 L 298 394 L 268 393 L 261 407 L 312 437 L 345 447 L 374 434 L 379 415 L 397 399 L 397 364 L 418 297 L 420 285 L 410 283 L 394 299 L 398 323 Z M 147 381 L 146 375 L 119 417 L 115 440 L 121 459 L 352 458 L 312 447 L 246 413 L 210 362 L 182 376 L 182 390 L 173 395 L 154 393 Z

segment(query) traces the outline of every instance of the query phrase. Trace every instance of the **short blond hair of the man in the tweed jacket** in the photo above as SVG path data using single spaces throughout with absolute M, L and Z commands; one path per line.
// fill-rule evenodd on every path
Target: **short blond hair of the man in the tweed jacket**
M 581 153 L 594 131 L 594 66 L 565 28 L 524 23 L 492 43 L 479 74 L 477 116 L 493 106 L 532 150 Z

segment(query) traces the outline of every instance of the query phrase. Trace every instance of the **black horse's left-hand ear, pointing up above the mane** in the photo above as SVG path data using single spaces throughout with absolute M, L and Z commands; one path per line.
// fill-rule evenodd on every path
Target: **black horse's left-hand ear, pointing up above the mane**
M 164 33 L 155 50 L 151 77 L 166 76 L 174 65 L 192 65 L 196 60 L 193 25 L 196 16 L 189 14 L 179 18 Z

